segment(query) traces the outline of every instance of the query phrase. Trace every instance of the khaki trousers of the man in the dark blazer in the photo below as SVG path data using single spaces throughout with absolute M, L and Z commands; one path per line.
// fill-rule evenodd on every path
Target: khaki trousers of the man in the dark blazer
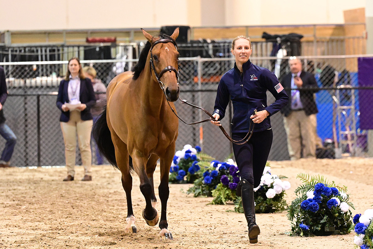
M 316 158 L 316 114 L 307 116 L 304 111 L 292 111 L 284 117 L 283 124 L 288 136 L 288 150 L 291 160 L 301 158 L 303 143 L 303 157 Z

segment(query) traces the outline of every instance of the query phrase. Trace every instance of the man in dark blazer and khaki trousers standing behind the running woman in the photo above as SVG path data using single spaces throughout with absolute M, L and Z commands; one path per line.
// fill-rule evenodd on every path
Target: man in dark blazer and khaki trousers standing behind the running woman
M 289 59 L 289 74 L 282 80 L 290 97 L 290 102 L 282 108 L 284 127 L 288 137 L 288 150 L 291 160 L 301 158 L 303 145 L 304 158 L 316 158 L 316 113 L 318 112 L 314 93 L 319 91 L 313 74 L 302 70 L 302 62 L 295 56 Z

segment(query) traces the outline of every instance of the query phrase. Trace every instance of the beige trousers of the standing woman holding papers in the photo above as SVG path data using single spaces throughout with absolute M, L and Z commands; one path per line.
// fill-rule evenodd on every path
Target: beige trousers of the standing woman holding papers
M 65 159 L 68 175 L 75 175 L 76 134 L 78 134 L 79 150 L 82 156 L 84 174 L 91 175 L 91 131 L 93 120 L 83 121 L 79 111 L 70 112 L 69 122 L 60 122 L 65 142 Z

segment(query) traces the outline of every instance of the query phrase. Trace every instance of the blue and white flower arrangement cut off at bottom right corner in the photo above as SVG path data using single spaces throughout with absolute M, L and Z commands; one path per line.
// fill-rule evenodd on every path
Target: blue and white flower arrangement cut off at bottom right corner
M 352 219 L 355 230 L 354 243 L 360 249 L 373 249 L 373 209 L 367 209 L 363 215 L 356 214 Z

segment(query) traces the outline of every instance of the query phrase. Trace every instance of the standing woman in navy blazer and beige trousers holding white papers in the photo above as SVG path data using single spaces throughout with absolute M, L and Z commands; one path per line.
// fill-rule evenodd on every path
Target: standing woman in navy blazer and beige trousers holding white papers
M 74 180 L 77 134 L 84 167 L 82 181 L 92 180 L 90 144 L 93 117 L 90 108 L 95 102 L 92 82 L 84 77 L 79 59 L 73 57 L 69 60 L 66 77 L 60 83 L 56 103 L 57 107 L 62 111 L 60 125 L 65 142 L 65 159 L 66 168 L 68 169 L 68 176 L 63 181 Z M 66 103 L 70 105 L 66 105 Z

